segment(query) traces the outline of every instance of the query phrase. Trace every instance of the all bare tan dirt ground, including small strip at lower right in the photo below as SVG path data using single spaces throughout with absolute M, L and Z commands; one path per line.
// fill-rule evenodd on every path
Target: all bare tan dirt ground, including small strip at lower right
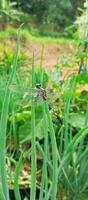
M 22 42 L 23 53 L 29 57 L 29 60 L 32 59 L 32 51 L 34 49 L 35 54 L 35 67 L 38 68 L 41 60 L 41 52 L 43 49 L 43 59 L 42 64 L 46 70 L 53 70 L 59 57 L 61 55 L 69 55 L 74 54 L 74 47 L 72 44 L 64 44 L 58 42 L 40 42 L 40 41 L 26 41 Z M 31 66 L 31 62 L 30 62 Z M 70 66 L 67 68 L 62 68 L 62 78 L 71 75 L 72 73 L 78 72 L 78 66 L 75 67 Z

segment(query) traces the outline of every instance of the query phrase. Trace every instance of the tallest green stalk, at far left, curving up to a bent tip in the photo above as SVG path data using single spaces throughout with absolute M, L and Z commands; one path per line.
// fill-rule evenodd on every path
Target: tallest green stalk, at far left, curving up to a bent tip
M 11 91 L 9 90 L 9 85 L 13 82 L 13 79 L 16 74 L 16 67 L 17 67 L 17 59 L 18 59 L 18 52 L 19 52 L 19 34 L 18 34 L 18 41 L 17 41 L 17 48 L 15 53 L 15 58 L 13 61 L 13 69 L 9 81 L 7 83 L 5 97 L 2 106 L 2 113 L 1 113 L 1 126 L 0 126 L 0 178 L 2 183 L 2 190 L 5 195 L 6 200 L 9 200 L 9 191 L 8 191 L 8 184 L 7 184 L 7 175 L 6 175 L 6 128 L 7 128 L 7 117 L 8 117 L 8 109 L 10 103 L 10 95 Z

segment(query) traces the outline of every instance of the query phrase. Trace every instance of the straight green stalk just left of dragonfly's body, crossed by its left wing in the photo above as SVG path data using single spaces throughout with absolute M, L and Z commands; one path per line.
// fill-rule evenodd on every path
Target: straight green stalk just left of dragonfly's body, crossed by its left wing
M 34 51 L 32 59 L 32 88 L 35 87 Z M 36 199 L 36 136 L 35 136 L 35 104 L 32 97 L 32 149 L 31 149 L 31 195 L 30 200 Z

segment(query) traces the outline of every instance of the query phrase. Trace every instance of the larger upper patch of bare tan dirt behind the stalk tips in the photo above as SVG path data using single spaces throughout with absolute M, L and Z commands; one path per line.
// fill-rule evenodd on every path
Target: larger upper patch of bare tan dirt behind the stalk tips
M 35 52 L 35 63 L 38 67 L 40 64 L 41 51 L 43 49 L 43 65 L 47 69 L 51 69 L 57 63 L 59 55 L 66 52 L 67 54 L 72 53 L 73 48 L 67 44 L 51 43 L 51 42 L 38 42 L 29 41 L 24 45 L 24 53 L 29 54 L 29 58 L 32 57 L 32 50 Z

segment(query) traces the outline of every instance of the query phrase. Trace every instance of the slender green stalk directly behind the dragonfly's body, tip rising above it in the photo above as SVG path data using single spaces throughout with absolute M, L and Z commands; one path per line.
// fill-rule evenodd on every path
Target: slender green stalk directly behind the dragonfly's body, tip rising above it
M 43 51 L 44 47 L 42 47 L 41 51 L 41 59 L 40 59 L 40 83 L 41 86 L 44 86 L 44 74 L 43 74 Z M 47 191 L 48 191 L 48 174 L 47 174 L 47 152 L 48 152 L 48 126 L 47 126 L 47 116 L 45 111 L 45 102 L 42 104 L 42 112 L 43 112 L 43 130 L 44 130 L 44 157 L 43 157 L 43 167 L 42 167 L 42 179 L 41 179 L 41 187 L 40 187 L 40 196 L 39 200 L 47 199 Z

